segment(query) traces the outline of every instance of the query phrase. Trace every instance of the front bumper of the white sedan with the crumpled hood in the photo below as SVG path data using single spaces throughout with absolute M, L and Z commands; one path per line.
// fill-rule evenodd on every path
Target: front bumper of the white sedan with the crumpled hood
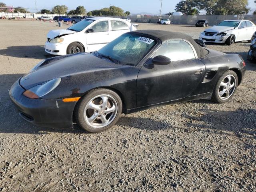
M 66 55 L 67 46 L 63 43 L 50 43 L 45 42 L 44 44 L 45 52 L 52 55 Z

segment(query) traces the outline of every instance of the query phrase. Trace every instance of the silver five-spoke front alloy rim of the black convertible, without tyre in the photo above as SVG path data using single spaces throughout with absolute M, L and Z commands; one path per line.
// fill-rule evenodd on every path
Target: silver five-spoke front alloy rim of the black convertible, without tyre
M 108 126 L 116 117 L 118 105 L 116 100 L 106 94 L 92 98 L 84 109 L 84 120 L 93 128 Z

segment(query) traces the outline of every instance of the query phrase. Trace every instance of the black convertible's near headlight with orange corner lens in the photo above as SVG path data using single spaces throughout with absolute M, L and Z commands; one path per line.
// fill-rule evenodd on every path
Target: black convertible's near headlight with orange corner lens
M 30 98 L 30 99 L 37 99 L 40 98 L 52 90 L 54 90 L 60 84 L 61 78 L 55 78 L 50 81 L 44 82 L 43 84 L 34 86 L 28 90 L 26 90 L 23 95 Z

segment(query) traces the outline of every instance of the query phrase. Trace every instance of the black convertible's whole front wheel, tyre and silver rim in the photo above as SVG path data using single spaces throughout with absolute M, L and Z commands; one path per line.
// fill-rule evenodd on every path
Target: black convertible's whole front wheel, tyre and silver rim
M 122 100 L 116 92 L 94 89 L 78 102 L 75 118 L 82 129 L 98 133 L 114 126 L 121 113 Z

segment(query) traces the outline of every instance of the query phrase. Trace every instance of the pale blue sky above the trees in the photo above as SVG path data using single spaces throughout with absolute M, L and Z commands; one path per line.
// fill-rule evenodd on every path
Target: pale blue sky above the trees
M 175 5 L 180 0 L 162 0 L 162 13 L 174 12 Z M 77 6 L 84 6 L 86 11 L 91 11 L 95 9 L 100 9 L 104 7 L 109 7 L 110 4 L 122 8 L 124 11 L 130 11 L 132 14 L 147 12 L 152 14 L 159 14 L 161 7 L 161 0 L 0 0 L 4 2 L 7 6 L 14 7 L 25 7 L 29 8 L 31 12 L 35 12 L 35 7 L 37 10 L 49 9 L 56 5 L 66 5 L 69 10 L 76 9 Z M 249 7 L 256 10 L 256 4 L 254 0 L 249 0 Z

